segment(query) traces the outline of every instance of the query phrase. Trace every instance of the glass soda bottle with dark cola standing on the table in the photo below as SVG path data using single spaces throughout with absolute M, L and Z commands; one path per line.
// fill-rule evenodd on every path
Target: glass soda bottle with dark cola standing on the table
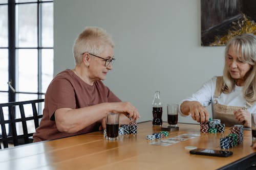
M 163 113 L 163 105 L 160 100 L 160 91 L 155 92 L 155 98 L 153 100 L 153 126 L 161 126 L 163 124 L 162 113 Z

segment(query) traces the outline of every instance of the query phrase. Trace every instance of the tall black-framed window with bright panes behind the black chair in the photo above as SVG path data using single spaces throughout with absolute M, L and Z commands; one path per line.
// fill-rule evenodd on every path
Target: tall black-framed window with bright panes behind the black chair
M 44 99 L 53 78 L 53 1 L 0 0 L 0 28 L 0 103 Z

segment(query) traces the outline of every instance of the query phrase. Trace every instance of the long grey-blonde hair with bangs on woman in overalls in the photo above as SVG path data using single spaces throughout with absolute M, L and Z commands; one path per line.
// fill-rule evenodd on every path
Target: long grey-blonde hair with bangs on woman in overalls
M 243 97 L 247 102 L 256 101 L 256 36 L 253 34 L 243 34 L 234 36 L 225 48 L 225 66 L 223 70 L 224 86 L 222 92 L 230 93 L 236 85 L 236 81 L 230 76 L 226 58 L 228 57 L 229 48 L 233 47 L 239 54 L 239 59 L 251 65 L 251 69 L 247 72 L 247 78 L 243 87 Z

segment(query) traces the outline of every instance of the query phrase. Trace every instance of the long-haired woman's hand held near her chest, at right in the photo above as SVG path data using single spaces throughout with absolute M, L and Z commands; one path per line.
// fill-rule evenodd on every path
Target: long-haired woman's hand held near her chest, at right
M 247 110 L 234 111 L 234 118 L 238 120 L 239 123 L 246 127 L 251 127 L 251 114 Z

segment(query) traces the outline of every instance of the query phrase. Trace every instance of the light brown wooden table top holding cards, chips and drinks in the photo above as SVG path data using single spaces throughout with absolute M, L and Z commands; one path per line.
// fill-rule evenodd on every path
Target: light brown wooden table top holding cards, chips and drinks
M 164 123 L 166 125 L 166 123 Z M 199 125 L 179 124 L 179 131 L 200 134 Z M 244 131 L 244 143 L 229 149 L 227 158 L 191 155 L 186 146 L 220 150 L 219 139 L 224 134 L 201 134 L 162 147 L 149 144 L 147 134 L 160 132 L 152 122 L 138 124 L 138 135 L 124 135 L 119 141 L 108 141 L 102 132 L 93 132 L 68 138 L 31 143 L 0 151 L 1 169 L 218 169 L 243 158 L 255 156 L 251 145 L 251 131 Z M 240 160 L 240 161 L 238 161 Z M 243 163 L 243 162 L 242 162 Z M 227 166 L 226 166 L 227 167 Z

